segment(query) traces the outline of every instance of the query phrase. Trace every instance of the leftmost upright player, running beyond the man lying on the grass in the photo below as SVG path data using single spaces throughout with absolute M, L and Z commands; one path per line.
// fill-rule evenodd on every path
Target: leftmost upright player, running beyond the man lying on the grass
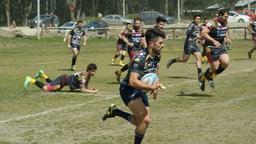
M 72 50 L 73 53 L 73 59 L 72 59 L 72 65 L 71 65 L 71 70 L 76 71 L 76 59 L 77 56 L 80 52 L 81 48 L 81 38 L 84 38 L 83 46 L 86 45 L 86 36 L 85 32 L 82 29 L 83 22 L 82 21 L 77 21 L 77 27 L 72 29 L 69 33 L 68 36 L 68 49 Z

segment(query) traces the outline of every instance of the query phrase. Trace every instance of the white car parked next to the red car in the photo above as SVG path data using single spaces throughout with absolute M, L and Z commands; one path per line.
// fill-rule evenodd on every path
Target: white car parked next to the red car
M 239 15 L 234 11 L 229 11 L 228 22 L 229 23 L 249 23 L 251 22 L 251 18 L 245 15 Z

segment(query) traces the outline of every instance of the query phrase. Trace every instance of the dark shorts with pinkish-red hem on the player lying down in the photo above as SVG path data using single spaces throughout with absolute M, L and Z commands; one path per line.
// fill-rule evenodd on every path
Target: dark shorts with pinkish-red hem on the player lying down
M 57 91 L 61 90 L 65 85 L 68 85 L 68 75 L 63 74 L 53 80 L 52 82 L 47 83 L 48 91 Z

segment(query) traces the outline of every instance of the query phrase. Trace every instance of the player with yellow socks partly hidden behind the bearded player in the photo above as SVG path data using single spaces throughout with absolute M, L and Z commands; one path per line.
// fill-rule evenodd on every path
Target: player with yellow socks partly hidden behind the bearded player
M 121 60 L 120 60 L 120 62 L 119 62 L 119 66 L 125 66 L 124 64 L 123 64 L 123 60 L 124 60 L 124 57 L 125 57 L 125 54 L 126 54 L 126 50 L 127 50 L 127 45 L 126 45 L 126 43 L 122 40 L 122 36 L 123 36 L 123 33 L 124 33 L 124 31 L 126 31 L 127 29 L 129 29 L 131 27 L 131 23 L 126 23 L 126 28 L 124 29 L 124 30 L 121 30 L 119 33 L 118 33 L 118 35 L 117 35 L 117 37 L 119 38 L 118 40 L 117 40 L 117 53 L 116 53 L 116 55 L 112 58 L 112 64 L 114 64 L 114 62 L 115 62 L 115 60 L 116 60 L 116 58 L 117 57 L 119 57 L 119 56 L 121 56 Z

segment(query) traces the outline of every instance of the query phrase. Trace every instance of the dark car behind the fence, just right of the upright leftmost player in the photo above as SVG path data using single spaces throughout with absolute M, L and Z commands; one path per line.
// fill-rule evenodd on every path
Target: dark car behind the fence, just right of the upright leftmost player
M 87 25 L 84 25 L 82 28 L 87 29 L 85 31 L 95 32 L 100 35 L 100 34 L 105 33 L 106 29 L 100 29 L 100 30 L 90 30 L 90 29 L 108 28 L 108 23 L 105 21 L 90 21 Z

